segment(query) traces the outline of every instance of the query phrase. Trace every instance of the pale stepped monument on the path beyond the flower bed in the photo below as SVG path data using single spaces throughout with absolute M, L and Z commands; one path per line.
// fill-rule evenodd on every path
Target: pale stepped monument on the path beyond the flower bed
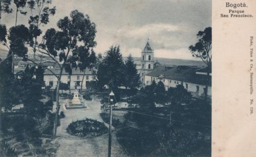
M 73 99 L 65 105 L 66 109 L 85 109 L 87 106 L 85 105 L 83 98 L 79 95 L 77 89 L 74 91 Z

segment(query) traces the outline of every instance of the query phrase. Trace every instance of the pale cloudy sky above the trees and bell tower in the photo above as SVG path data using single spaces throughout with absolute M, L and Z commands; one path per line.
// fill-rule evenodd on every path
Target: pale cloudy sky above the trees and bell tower
M 197 42 L 197 32 L 211 27 L 210 0 L 52 0 L 56 14 L 41 29 L 57 28 L 60 18 L 78 11 L 96 24 L 96 53 L 119 44 L 123 56 L 140 57 L 149 39 L 155 57 L 199 60 L 188 47 Z M 18 15 L 17 25 L 28 15 Z M 4 14 L 1 24 L 15 24 L 15 14 Z M 44 34 L 44 33 L 43 33 Z

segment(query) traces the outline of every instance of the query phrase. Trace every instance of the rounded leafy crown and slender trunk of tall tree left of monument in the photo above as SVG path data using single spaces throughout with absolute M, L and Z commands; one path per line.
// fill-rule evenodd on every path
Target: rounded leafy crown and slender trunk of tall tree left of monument
M 38 53 L 51 57 L 59 66 L 59 73 L 55 74 L 58 80 L 56 87 L 56 101 L 57 109 L 55 113 L 53 137 L 56 136 L 56 129 L 58 123 L 59 113 L 59 86 L 63 70 L 72 73 L 72 68 L 90 65 L 89 56 L 92 53 L 92 48 L 95 47 L 94 41 L 96 29 L 95 24 L 91 22 L 88 15 L 84 16 L 82 13 L 74 10 L 67 16 L 60 19 L 57 23 L 60 31 L 55 29 L 48 29 L 43 37 L 44 43 L 39 44 L 36 51 Z M 71 55 L 72 53 L 72 55 Z M 57 60 L 56 57 L 59 57 Z M 62 62 L 62 64 L 60 64 Z

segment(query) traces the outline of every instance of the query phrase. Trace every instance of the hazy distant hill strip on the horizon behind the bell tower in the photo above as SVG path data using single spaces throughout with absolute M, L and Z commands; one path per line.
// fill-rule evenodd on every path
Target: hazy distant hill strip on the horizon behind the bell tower
M 139 57 L 133 57 L 134 61 L 139 64 L 140 58 Z M 127 57 L 123 57 L 124 60 L 127 59 Z M 198 67 L 204 67 L 205 63 L 203 61 L 196 61 L 196 60 L 186 60 L 186 59 L 171 59 L 171 58 L 156 58 L 155 62 L 158 61 L 161 65 L 193 65 Z

